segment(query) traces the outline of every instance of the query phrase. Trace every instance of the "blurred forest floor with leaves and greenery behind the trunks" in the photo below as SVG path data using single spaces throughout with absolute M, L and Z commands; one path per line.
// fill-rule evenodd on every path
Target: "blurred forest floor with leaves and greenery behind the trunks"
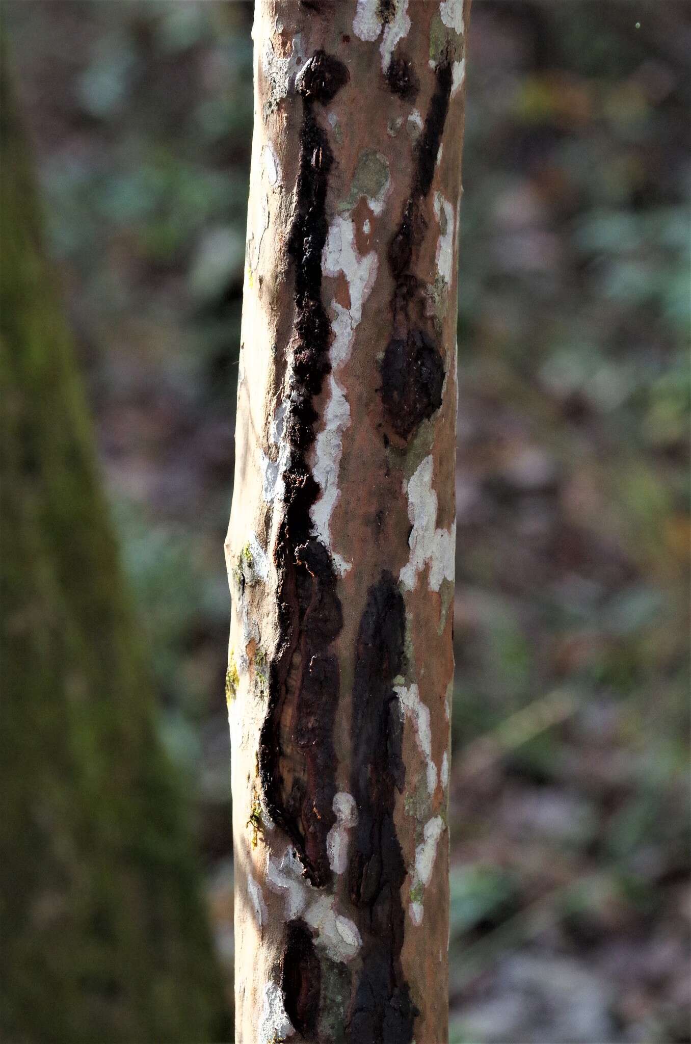
M 474 4 L 455 1044 L 691 1039 L 690 10 Z M 222 541 L 252 6 L 4 0 L 3 14 L 230 981 Z

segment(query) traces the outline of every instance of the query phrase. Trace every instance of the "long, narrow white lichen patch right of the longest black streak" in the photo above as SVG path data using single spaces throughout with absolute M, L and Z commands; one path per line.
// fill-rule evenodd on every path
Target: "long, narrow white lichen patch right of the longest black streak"
M 355 224 L 349 217 L 337 215 L 331 223 L 323 254 L 325 275 L 345 277 L 350 306 L 344 308 L 335 299 L 331 303 L 331 328 L 334 339 L 329 357 L 329 399 L 324 410 L 324 424 L 314 444 L 312 474 L 319 484 L 321 495 L 311 508 L 312 522 L 321 543 L 331 555 L 341 575 L 351 564 L 337 554 L 331 546 L 331 516 L 339 496 L 338 470 L 342 452 L 342 436 L 351 423 L 351 409 L 345 389 L 338 381 L 338 374 L 353 350 L 355 331 L 362 318 L 362 305 L 372 292 L 377 278 L 375 252 L 361 257 L 355 245 Z

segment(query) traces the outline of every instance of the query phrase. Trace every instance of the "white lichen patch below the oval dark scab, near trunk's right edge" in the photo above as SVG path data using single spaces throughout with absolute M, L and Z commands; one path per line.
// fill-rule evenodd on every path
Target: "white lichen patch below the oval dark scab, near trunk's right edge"
M 410 557 L 399 574 L 403 586 L 412 591 L 418 573 L 429 566 L 429 586 L 438 591 L 443 580 L 453 583 L 455 571 L 456 523 L 449 529 L 437 529 L 437 496 L 432 489 L 433 460 L 426 456 L 407 482 L 403 492 L 408 497 L 408 518 L 412 529 L 408 538 Z

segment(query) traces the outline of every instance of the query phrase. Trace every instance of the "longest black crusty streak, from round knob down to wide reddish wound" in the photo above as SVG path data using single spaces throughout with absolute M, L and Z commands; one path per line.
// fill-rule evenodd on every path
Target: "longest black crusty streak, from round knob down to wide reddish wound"
M 295 85 L 303 98 L 303 121 L 288 240 L 295 306 L 285 422 L 291 456 L 284 476 L 284 517 L 273 551 L 280 640 L 269 665 L 268 709 L 259 745 L 267 810 L 290 837 L 306 877 L 316 886 L 331 879 L 327 834 L 335 823 L 333 727 L 339 678 L 330 645 L 341 630 L 342 611 L 333 560 L 312 530 L 310 509 L 319 488 L 307 462 L 317 420 L 313 401 L 329 373 L 331 339 L 329 316 L 321 304 L 321 252 L 334 161 L 314 106 L 331 100 L 347 80 L 342 63 L 316 51 Z

